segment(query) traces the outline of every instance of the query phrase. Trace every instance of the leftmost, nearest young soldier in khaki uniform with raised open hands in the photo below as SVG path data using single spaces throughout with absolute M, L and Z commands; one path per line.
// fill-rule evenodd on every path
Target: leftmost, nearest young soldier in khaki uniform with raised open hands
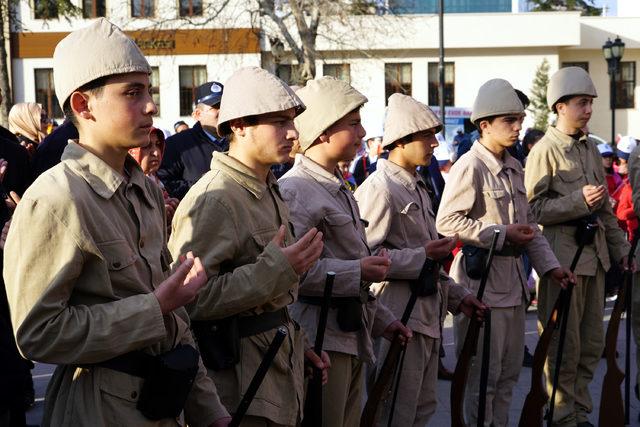
M 104 19 L 65 37 L 53 62 L 56 94 L 80 138 L 24 194 L 4 251 L 18 346 L 58 364 L 43 424 L 176 425 L 145 418 L 136 404 L 157 379 L 144 372 L 149 355 L 194 345 L 181 307 L 206 276 L 197 258 L 169 276 L 162 192 L 127 155 L 149 141 L 151 68 Z M 187 422 L 226 425 L 202 362 L 195 368 Z

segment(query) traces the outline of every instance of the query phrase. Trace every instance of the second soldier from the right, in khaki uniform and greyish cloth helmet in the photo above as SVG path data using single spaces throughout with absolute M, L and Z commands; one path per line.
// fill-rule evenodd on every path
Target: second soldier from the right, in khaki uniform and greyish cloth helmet
M 451 168 L 449 182 L 455 184 L 445 186 L 437 217 L 440 233 L 458 233 L 467 245 L 488 248 L 493 230 L 501 232 L 482 299 L 491 307 L 492 328 L 485 422 L 494 426 L 509 423 L 511 392 L 522 366 L 525 303 L 529 298 L 522 253 L 527 252 L 540 276 L 563 282 L 570 278 L 529 210 L 520 163 L 506 151 L 518 140 L 523 118 L 524 108 L 509 82 L 494 79 L 480 87 L 471 115 L 480 139 Z M 469 278 L 465 258 L 462 251 L 456 255 L 451 277 L 477 290 L 480 281 Z M 458 351 L 467 325 L 462 316 L 454 320 Z M 483 331 L 480 343 L 482 335 Z M 477 422 L 481 350 L 478 355 L 472 362 L 465 396 L 469 425 Z

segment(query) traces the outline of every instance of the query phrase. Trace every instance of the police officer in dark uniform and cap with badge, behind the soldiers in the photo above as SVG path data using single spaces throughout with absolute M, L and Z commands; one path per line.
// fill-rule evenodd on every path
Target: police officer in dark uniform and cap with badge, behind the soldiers
M 165 188 L 177 199 L 182 199 L 189 188 L 209 170 L 211 154 L 229 149 L 228 141 L 218 135 L 218 115 L 224 86 L 207 82 L 196 88 L 196 106 L 192 128 L 167 138 L 158 177 Z

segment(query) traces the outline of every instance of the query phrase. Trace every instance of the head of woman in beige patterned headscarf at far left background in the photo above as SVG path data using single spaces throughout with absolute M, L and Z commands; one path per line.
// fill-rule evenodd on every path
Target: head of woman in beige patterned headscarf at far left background
M 20 145 L 33 154 L 38 144 L 47 136 L 49 118 L 42 105 L 35 102 L 20 102 L 9 111 L 9 130 L 13 132 Z

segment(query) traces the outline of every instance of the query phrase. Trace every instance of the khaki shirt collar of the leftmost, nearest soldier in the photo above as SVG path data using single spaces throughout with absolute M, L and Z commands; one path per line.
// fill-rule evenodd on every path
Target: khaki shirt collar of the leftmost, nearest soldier
M 77 140 L 69 140 L 61 160 L 65 161 L 72 170 L 87 181 L 96 194 L 104 199 L 110 199 L 124 182 L 122 175 L 100 157 L 78 144 Z M 130 174 L 129 183 L 139 187 L 144 195 L 143 199 L 149 206 L 153 206 L 151 196 L 147 192 L 146 177 L 138 163 L 127 155 L 124 168 Z

